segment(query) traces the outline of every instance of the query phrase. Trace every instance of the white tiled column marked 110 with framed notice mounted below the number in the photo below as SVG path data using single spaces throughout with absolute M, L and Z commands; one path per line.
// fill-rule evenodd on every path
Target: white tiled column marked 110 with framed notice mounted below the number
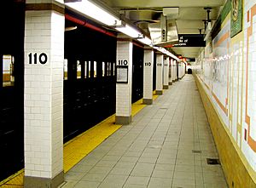
M 116 83 L 116 124 L 131 122 L 131 77 L 132 77 L 132 43 L 129 39 L 118 38 L 117 42 L 117 81 L 119 66 L 128 67 L 128 83 Z

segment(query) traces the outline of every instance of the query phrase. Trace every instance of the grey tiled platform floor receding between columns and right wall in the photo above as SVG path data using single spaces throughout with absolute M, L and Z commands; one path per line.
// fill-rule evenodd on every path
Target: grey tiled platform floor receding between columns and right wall
M 62 188 L 225 188 L 207 117 L 186 75 L 65 174 Z

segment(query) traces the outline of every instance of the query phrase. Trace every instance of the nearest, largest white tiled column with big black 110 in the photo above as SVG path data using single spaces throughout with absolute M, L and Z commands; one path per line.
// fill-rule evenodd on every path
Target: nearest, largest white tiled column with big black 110
M 26 1 L 24 187 L 64 181 L 64 28 L 63 3 Z

